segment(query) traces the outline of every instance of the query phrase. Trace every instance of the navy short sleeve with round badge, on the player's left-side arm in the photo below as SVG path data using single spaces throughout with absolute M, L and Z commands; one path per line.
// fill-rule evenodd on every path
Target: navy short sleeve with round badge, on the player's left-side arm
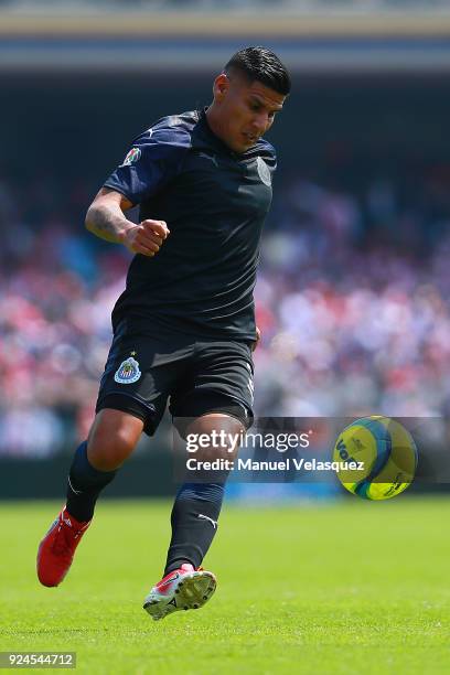
M 120 192 L 132 204 L 139 204 L 176 175 L 190 147 L 191 137 L 185 129 L 170 126 L 170 121 L 158 122 L 133 140 L 122 163 L 104 186 Z

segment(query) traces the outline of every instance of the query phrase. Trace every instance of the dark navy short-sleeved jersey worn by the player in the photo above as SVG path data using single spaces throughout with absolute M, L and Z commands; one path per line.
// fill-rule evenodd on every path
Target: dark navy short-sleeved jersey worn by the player
M 139 136 L 105 182 L 140 205 L 140 221 L 165 221 L 154 257 L 136 255 L 113 324 L 167 325 L 202 336 L 254 341 L 253 290 L 271 202 L 274 148 L 243 154 L 210 129 L 204 111 L 164 117 Z

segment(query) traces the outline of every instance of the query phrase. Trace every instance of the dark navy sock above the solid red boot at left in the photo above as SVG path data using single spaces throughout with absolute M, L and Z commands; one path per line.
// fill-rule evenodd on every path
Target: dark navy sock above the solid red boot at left
M 87 442 L 78 446 L 67 481 L 67 511 L 77 521 L 90 521 L 101 490 L 117 471 L 98 471 L 87 459 Z

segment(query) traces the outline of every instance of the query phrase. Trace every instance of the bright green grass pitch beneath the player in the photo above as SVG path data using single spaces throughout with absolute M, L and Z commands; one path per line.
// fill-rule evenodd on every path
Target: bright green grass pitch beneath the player
M 448 499 L 226 505 L 206 558 L 215 596 L 161 622 L 141 602 L 169 502 L 100 502 L 69 576 L 46 589 L 35 549 L 58 506 L 0 504 L 1 651 L 76 651 L 73 672 L 95 675 L 449 673 Z

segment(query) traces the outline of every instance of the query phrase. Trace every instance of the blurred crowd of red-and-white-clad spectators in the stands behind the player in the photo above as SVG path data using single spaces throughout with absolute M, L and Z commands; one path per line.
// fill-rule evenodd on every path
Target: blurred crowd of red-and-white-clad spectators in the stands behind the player
M 0 180 L 3 456 L 68 450 L 93 418 L 129 255 L 84 229 L 89 190 Z M 353 189 L 280 173 L 256 287 L 256 413 L 448 415 L 449 225 L 450 167 Z

